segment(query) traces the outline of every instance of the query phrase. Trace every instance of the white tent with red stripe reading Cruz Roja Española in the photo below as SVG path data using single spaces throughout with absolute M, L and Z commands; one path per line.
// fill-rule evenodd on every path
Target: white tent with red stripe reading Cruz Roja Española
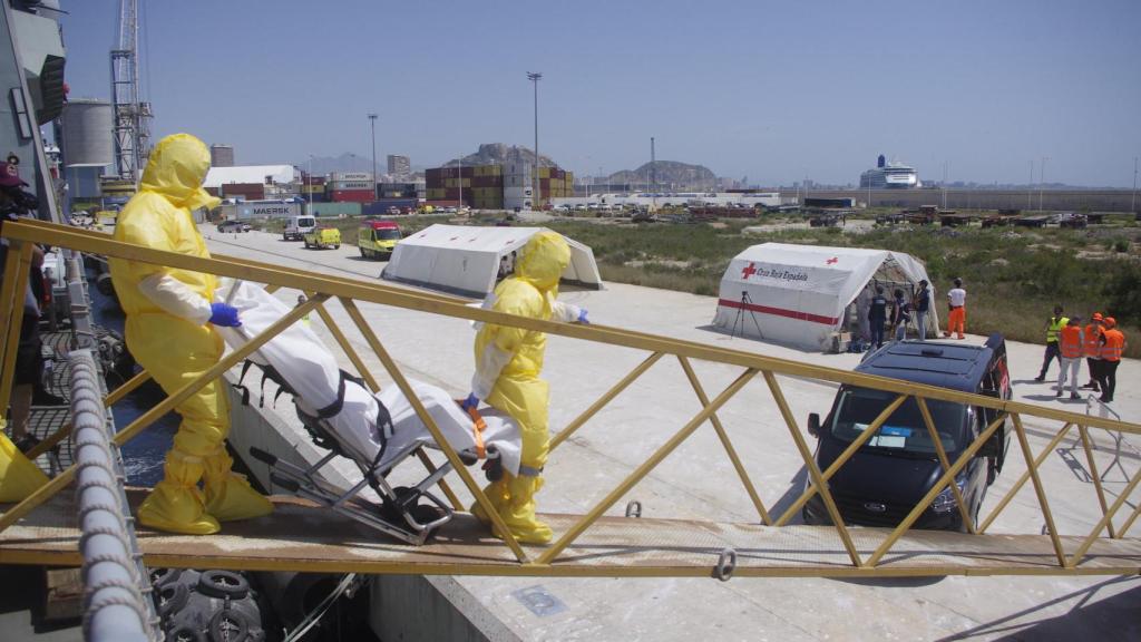
M 853 321 L 859 328 L 853 335 L 868 336 L 867 310 L 877 283 L 890 304 L 895 288 L 911 300 L 924 279 L 930 280 L 923 264 L 903 252 L 761 243 L 729 262 L 713 324 L 731 334 L 827 351 L 833 332 L 848 330 Z M 932 287 L 928 337 L 939 331 L 936 303 Z M 913 319 L 913 330 L 916 322 Z

